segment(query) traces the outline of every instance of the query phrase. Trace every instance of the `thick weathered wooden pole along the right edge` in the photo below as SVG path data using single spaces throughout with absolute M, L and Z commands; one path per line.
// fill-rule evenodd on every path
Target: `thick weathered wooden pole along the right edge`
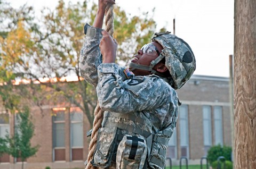
M 235 168 L 256 168 L 256 0 L 235 0 L 234 136 Z

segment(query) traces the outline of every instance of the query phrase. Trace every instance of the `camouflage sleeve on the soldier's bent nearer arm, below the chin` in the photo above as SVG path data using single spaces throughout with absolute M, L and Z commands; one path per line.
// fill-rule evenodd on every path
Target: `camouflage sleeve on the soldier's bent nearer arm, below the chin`
M 145 82 L 141 82 L 138 86 L 135 86 L 137 87 L 137 91 L 134 91 L 133 84 L 130 87 L 127 85 L 131 80 L 122 80 L 118 74 L 118 65 L 115 63 L 103 63 L 99 65 L 98 75 L 99 83 L 96 89 L 102 110 L 129 113 L 154 109 L 157 116 L 161 119 L 165 117 L 169 106 L 164 106 L 166 102 L 164 93 L 166 95 L 169 94 L 158 77 L 149 78 L 147 82 L 146 80 Z

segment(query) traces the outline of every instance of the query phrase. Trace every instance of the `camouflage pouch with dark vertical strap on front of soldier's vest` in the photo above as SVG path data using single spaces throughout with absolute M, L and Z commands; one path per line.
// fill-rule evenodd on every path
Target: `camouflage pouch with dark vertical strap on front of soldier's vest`
M 146 156 L 146 141 L 126 134 L 117 148 L 116 168 L 143 168 Z

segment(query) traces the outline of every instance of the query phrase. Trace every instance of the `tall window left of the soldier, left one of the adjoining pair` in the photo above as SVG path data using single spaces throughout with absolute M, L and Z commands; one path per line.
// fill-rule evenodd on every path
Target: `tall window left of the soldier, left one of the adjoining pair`
M 65 160 L 65 111 L 52 116 L 53 161 Z

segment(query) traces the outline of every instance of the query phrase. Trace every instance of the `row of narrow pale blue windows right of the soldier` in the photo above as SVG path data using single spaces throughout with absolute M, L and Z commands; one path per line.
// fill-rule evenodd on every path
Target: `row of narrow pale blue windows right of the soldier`
M 221 106 L 203 106 L 203 140 L 204 140 L 204 155 L 207 155 L 208 149 L 212 143 L 212 126 L 214 127 L 214 143 L 215 145 L 223 145 L 223 128 L 222 128 L 222 107 Z M 213 123 L 212 125 L 212 117 Z M 188 126 L 188 105 L 179 107 L 179 137 L 180 137 L 180 153 L 181 157 L 189 158 L 189 126 Z M 167 156 L 177 159 L 177 130 L 169 141 Z

